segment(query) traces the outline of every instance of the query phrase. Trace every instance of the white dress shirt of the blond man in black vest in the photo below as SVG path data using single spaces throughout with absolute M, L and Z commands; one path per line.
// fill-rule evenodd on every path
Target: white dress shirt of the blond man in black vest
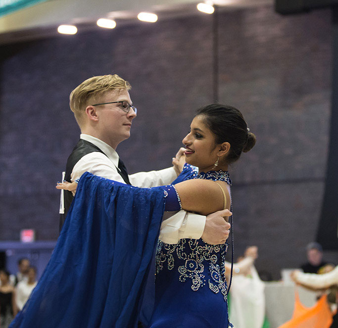
M 125 183 L 118 173 L 119 156 L 114 148 L 93 136 L 81 134 L 80 138 L 95 144 L 104 154 L 95 151 L 83 156 L 73 168 L 71 181 L 80 178 L 86 171 L 97 176 Z M 159 171 L 139 172 L 129 175 L 135 187 L 157 187 L 171 184 L 177 178 L 174 168 Z M 205 226 L 205 216 L 186 211 L 166 212 L 160 228 L 159 239 L 175 244 L 182 238 L 199 239 Z

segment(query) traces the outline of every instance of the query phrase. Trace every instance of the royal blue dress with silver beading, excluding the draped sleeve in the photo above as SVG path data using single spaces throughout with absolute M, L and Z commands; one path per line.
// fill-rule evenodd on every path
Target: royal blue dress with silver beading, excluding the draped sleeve
M 208 179 L 231 184 L 229 173 L 198 174 L 185 165 L 174 182 Z M 228 328 L 225 254 L 227 245 L 202 239 L 181 239 L 177 244 L 158 241 L 156 251 L 155 308 L 149 328 Z

